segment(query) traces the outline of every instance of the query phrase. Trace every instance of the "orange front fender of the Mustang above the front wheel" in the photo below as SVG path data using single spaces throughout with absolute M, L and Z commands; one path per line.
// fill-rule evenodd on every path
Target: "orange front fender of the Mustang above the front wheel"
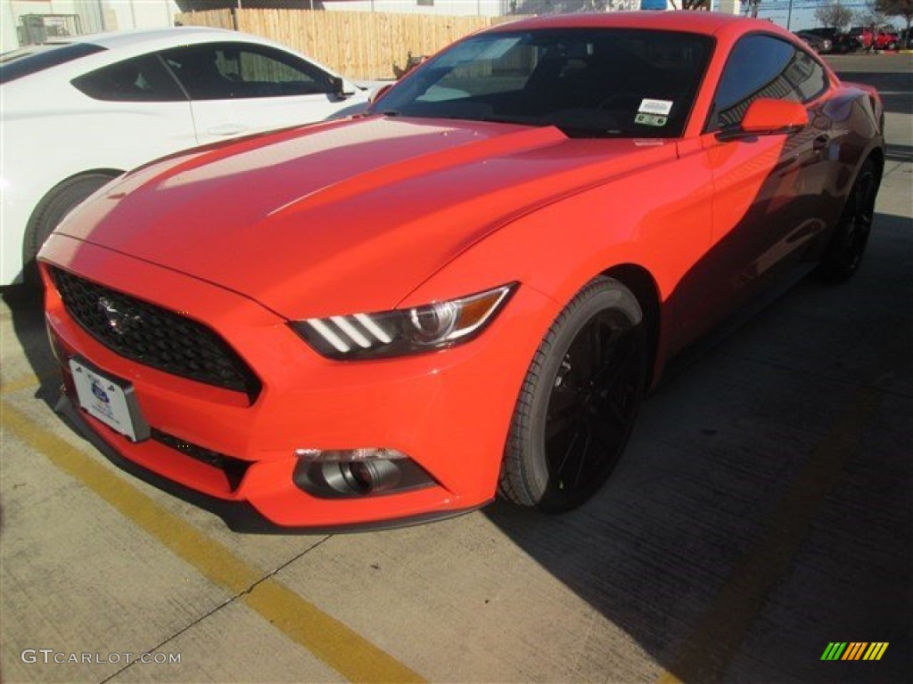
M 473 244 L 405 297 L 419 306 L 516 281 L 551 300 L 530 316 L 535 351 L 561 308 L 593 277 L 620 264 L 643 269 L 659 295 L 657 363 L 674 347 L 675 311 L 664 304 L 712 244 L 712 177 L 696 150 L 629 172 L 519 216 Z

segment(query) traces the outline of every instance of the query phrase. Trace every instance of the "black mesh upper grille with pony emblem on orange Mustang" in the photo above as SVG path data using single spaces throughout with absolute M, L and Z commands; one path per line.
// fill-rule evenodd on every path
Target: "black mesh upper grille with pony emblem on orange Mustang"
M 59 268 L 51 274 L 68 314 L 105 347 L 166 373 L 246 392 L 251 401 L 257 397 L 257 377 L 208 327 Z

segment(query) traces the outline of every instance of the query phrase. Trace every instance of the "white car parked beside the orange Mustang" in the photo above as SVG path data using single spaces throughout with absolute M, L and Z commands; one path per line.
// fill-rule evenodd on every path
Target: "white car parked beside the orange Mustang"
M 178 27 L 0 55 L 0 285 L 123 171 L 186 148 L 357 113 L 371 91 L 257 36 Z

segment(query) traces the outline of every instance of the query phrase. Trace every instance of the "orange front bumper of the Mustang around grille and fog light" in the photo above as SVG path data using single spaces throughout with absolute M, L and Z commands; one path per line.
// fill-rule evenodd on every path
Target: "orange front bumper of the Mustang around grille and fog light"
M 241 393 L 122 358 L 68 315 L 46 269 L 47 327 L 68 396 L 75 397 L 68 359 L 86 359 L 130 383 L 153 434 L 169 438 L 132 442 L 77 409 L 105 451 L 207 500 L 249 507 L 281 528 L 414 523 L 488 503 L 514 402 L 540 338 L 530 330 L 545 329 L 557 313 L 545 297 L 520 287 L 502 315 L 465 346 L 334 362 L 311 350 L 281 316 L 193 277 L 62 235 L 48 241 L 42 260 L 195 319 L 247 362 L 262 383 L 253 403 Z M 296 450 L 363 447 L 404 452 L 429 482 L 336 497 L 314 495 L 293 482 Z M 207 459 L 213 452 L 226 461 Z

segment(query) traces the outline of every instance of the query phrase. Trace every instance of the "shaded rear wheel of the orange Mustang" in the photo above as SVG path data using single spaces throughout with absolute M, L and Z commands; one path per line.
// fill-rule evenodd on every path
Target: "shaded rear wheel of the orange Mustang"
M 853 182 L 831 243 L 818 267 L 818 273 L 824 280 L 842 283 L 859 270 L 872 232 L 880 181 L 875 162 L 867 159 Z

